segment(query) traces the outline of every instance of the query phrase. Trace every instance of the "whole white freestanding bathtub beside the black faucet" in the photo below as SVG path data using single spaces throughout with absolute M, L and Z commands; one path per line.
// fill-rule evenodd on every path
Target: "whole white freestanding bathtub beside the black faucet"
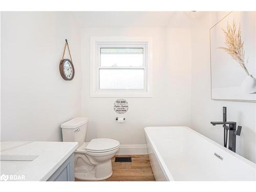
M 255 180 L 255 163 L 189 127 L 144 130 L 156 181 Z

